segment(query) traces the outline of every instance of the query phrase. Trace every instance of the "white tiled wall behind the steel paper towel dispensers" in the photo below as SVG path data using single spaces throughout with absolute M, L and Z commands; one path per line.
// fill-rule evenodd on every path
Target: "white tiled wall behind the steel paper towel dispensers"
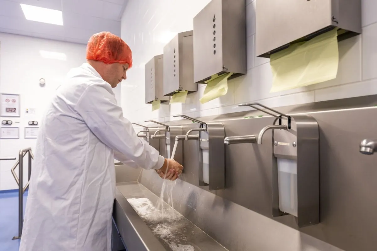
M 339 71 L 328 82 L 270 93 L 272 75 L 269 60 L 255 56 L 256 1 L 246 0 L 247 75 L 229 81 L 228 94 L 201 104 L 205 86 L 189 94 L 185 104 L 161 105 L 152 112 L 144 103 L 144 65 L 178 32 L 193 29 L 193 17 L 210 0 L 130 0 L 121 22 L 121 37 L 133 51 L 134 67 L 122 82 L 124 116 L 132 122 L 147 119 L 173 120 L 173 115 L 209 116 L 242 111 L 242 102 L 258 101 L 277 107 L 377 94 L 377 1 L 362 0 L 363 34 L 339 43 Z

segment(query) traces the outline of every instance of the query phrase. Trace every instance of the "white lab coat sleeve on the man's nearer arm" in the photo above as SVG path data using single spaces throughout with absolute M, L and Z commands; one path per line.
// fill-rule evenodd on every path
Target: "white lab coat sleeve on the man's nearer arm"
M 107 86 L 108 85 L 108 86 Z M 145 140 L 136 136 L 132 124 L 123 117 L 107 83 L 91 84 L 75 106 L 89 129 L 104 144 L 144 169 L 160 169 L 165 158 Z

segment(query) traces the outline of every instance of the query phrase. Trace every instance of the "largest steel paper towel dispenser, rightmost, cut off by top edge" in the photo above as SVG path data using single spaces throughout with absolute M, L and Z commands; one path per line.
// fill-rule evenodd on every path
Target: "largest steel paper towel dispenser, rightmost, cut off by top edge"
M 337 28 L 338 40 L 361 33 L 361 0 L 260 0 L 256 2 L 256 54 L 270 55 L 290 44 Z

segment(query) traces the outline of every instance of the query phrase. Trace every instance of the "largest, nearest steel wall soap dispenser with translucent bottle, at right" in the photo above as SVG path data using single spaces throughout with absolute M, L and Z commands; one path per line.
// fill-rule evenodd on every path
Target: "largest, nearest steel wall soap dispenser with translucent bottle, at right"
M 309 115 L 288 116 L 259 103 L 239 106 L 251 106 L 276 117 L 273 125 L 263 128 L 257 136 L 257 143 L 262 144 L 265 132 L 273 129 L 273 216 L 292 214 L 299 227 L 319 223 L 317 121 Z

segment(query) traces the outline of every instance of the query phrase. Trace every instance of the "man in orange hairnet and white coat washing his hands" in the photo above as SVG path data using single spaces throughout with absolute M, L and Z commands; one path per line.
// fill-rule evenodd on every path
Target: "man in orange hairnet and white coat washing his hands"
M 67 74 L 40 125 L 20 251 L 110 251 L 114 158 L 171 180 L 182 173 L 136 136 L 116 104 L 112 88 L 132 66 L 127 44 L 95 34 L 86 58 Z

